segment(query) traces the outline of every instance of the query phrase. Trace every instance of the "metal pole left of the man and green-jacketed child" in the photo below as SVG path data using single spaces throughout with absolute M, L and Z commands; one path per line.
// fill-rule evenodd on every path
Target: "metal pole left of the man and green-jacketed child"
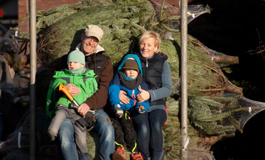
M 37 36 L 36 36 L 36 0 L 30 0 L 30 160 L 37 158 L 37 110 L 36 110 L 36 84 L 37 73 Z

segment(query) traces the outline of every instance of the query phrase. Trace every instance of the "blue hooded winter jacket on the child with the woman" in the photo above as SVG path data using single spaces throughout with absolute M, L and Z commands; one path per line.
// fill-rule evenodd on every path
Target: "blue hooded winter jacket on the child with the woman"
M 138 103 L 136 100 L 136 95 L 140 93 L 138 88 L 148 90 L 147 84 L 143 81 L 135 89 L 127 89 L 120 82 L 119 72 L 121 71 L 121 68 L 122 68 L 123 64 L 125 63 L 125 61 L 131 57 L 133 57 L 136 60 L 138 66 L 139 66 L 140 73 L 141 73 L 141 75 L 143 74 L 139 57 L 137 55 L 128 54 L 127 56 L 125 56 L 123 58 L 121 64 L 118 67 L 117 72 L 114 74 L 113 79 L 110 82 L 109 87 L 108 87 L 108 97 L 109 97 L 111 106 L 114 106 L 115 104 L 120 104 L 121 109 L 127 110 L 127 111 L 131 111 L 133 109 L 133 107 L 140 106 L 140 103 Z M 123 90 L 127 93 L 126 96 L 129 97 L 129 99 L 130 99 L 129 104 L 121 104 L 120 103 L 120 99 L 119 99 L 120 90 Z M 146 111 L 149 109 L 148 100 L 142 102 L 141 105 L 143 105 L 145 107 Z

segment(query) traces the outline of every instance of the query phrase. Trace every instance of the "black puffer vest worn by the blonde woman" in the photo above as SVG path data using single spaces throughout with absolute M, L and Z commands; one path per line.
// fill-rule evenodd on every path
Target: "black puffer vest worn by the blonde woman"
M 164 68 L 164 62 L 168 56 L 164 53 L 156 53 L 152 58 L 146 59 L 139 52 L 131 51 L 131 54 L 136 54 L 142 65 L 143 81 L 146 82 L 148 89 L 155 90 L 161 88 L 161 76 Z M 166 98 L 150 102 L 151 105 L 166 104 Z

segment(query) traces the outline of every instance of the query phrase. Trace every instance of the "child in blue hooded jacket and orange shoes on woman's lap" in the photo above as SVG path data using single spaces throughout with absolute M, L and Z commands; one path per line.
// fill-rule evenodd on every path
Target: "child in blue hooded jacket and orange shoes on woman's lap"
M 115 152 L 113 159 L 118 157 L 126 159 L 125 143 L 127 144 L 127 149 L 132 152 L 132 159 L 142 159 L 136 146 L 136 132 L 129 117 L 130 112 L 141 114 L 149 108 L 148 100 L 142 103 L 137 101 L 136 95 L 140 93 L 138 88 L 148 90 L 147 84 L 143 82 L 142 67 L 138 56 L 128 54 L 123 58 L 118 71 L 114 74 L 109 85 L 108 97 L 112 109 L 116 113 L 116 118 L 111 118 L 115 130 Z M 127 93 L 126 96 L 130 99 L 129 104 L 120 103 L 120 90 Z

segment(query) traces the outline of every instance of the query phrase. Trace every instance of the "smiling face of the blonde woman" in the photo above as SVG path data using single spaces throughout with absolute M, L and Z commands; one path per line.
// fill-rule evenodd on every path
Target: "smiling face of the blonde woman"
M 150 37 L 143 40 L 139 46 L 140 53 L 144 58 L 150 58 L 157 51 L 157 45 L 155 45 L 155 38 Z

